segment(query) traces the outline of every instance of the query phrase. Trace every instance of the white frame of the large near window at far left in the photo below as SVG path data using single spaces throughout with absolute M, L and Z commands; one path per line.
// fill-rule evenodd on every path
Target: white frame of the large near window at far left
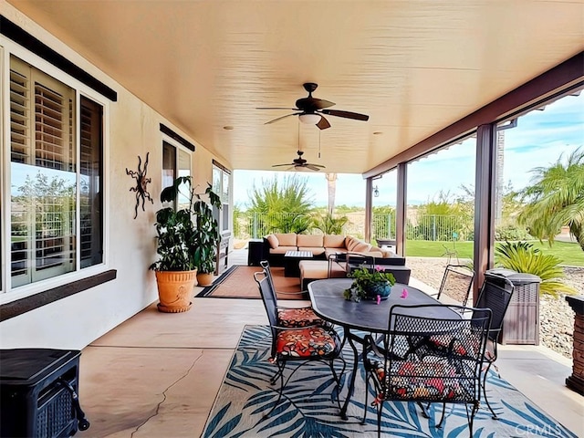
M 102 115 L 102 164 L 103 164 L 103 174 L 102 178 L 102 247 L 103 247 L 103 257 L 99 264 L 94 266 L 80 267 L 80 241 L 77 239 L 76 242 L 76 269 L 74 271 L 50 277 L 44 280 L 40 280 L 35 283 L 30 283 L 20 287 L 13 287 L 11 281 L 11 271 L 7 262 L 10 259 L 10 239 L 7 237 L 10 222 L 10 209 L 3 209 L 0 211 L 0 233 L 2 238 L 0 239 L 0 263 L 2 268 L 0 269 L 0 305 L 15 301 L 16 299 L 29 297 L 38 293 L 46 292 L 47 290 L 55 287 L 61 287 L 90 276 L 96 276 L 108 270 L 110 265 L 109 254 L 110 254 L 110 234 L 109 234 L 109 203 L 110 203 L 110 176 L 108 172 L 109 162 L 110 162 L 110 99 L 99 94 L 98 91 L 89 88 L 88 85 L 79 81 L 76 78 L 69 76 L 67 73 L 57 68 L 47 60 L 38 57 L 34 53 L 30 52 L 26 47 L 22 47 L 17 43 L 6 39 L 4 36 L 0 36 L 0 80 L 2 80 L 2 89 L 10 89 L 10 57 L 18 57 L 22 61 L 26 62 L 30 66 L 38 69 L 42 73 L 46 74 L 51 78 L 55 78 L 63 84 L 67 85 L 69 88 L 73 89 L 75 95 L 75 143 L 76 143 L 76 154 L 77 154 L 77 164 L 79 161 L 79 148 L 80 148 L 80 105 L 81 97 L 90 99 L 95 103 L 99 104 L 103 110 Z M 2 179 L 0 181 L 0 199 L 6 199 L 7 187 L 10 187 L 10 182 L 12 181 L 12 175 L 10 170 L 10 119 L 7 114 L 10 113 L 10 99 L 9 93 L 4 93 L 0 95 L 0 122 L 3 126 L 4 135 L 0 139 L 0 147 L 2 153 L 0 153 L 0 166 L 2 169 Z M 79 175 L 77 171 L 77 184 L 79 184 Z M 9 194 L 9 193 L 8 193 Z M 79 192 L 76 193 L 77 205 L 79 202 Z M 4 205 L 5 203 L 3 203 Z M 77 213 L 77 209 L 76 209 Z M 76 214 L 76 227 L 79 226 L 79 215 Z

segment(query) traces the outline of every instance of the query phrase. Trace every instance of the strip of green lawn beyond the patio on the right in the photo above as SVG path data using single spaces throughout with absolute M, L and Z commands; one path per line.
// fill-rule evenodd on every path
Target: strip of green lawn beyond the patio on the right
M 538 240 L 530 241 L 535 248 L 538 248 L 544 254 L 557 256 L 563 265 L 584 266 L 584 251 L 578 244 L 568 242 L 554 242 L 550 248 L 547 242 L 540 244 Z M 408 240 L 406 245 L 406 256 L 412 257 L 446 257 L 446 249 L 443 245 L 452 251 L 456 249 L 460 258 L 473 258 L 473 242 L 433 242 L 429 240 Z

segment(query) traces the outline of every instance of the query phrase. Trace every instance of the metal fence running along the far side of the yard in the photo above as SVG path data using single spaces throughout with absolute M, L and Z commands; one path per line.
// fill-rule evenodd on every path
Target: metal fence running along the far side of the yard
M 335 214 L 347 216 L 343 234 L 362 238 L 365 235 L 365 213 Z M 234 233 L 238 239 L 261 239 L 270 233 L 322 234 L 314 227 L 312 214 L 242 213 L 235 218 Z M 452 242 L 472 240 L 472 218 L 440 214 L 408 214 L 406 238 Z M 395 214 L 373 214 L 371 240 L 395 237 Z

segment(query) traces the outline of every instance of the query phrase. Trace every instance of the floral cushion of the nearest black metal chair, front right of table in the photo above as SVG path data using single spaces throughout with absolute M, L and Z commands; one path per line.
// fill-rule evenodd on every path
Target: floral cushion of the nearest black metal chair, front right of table
M 402 361 L 387 376 L 384 362 L 370 360 L 373 376 L 385 388 L 391 400 L 422 401 L 464 401 L 472 400 L 474 395 L 470 381 L 455 375 L 452 366 L 445 362 Z M 384 397 L 380 394 L 380 399 Z

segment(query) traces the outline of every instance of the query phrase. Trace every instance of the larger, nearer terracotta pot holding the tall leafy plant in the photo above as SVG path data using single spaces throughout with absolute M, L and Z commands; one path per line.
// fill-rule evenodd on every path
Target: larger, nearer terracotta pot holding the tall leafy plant
M 193 287 L 197 281 L 197 270 L 156 271 L 158 285 L 158 310 L 165 313 L 180 313 L 191 309 Z

